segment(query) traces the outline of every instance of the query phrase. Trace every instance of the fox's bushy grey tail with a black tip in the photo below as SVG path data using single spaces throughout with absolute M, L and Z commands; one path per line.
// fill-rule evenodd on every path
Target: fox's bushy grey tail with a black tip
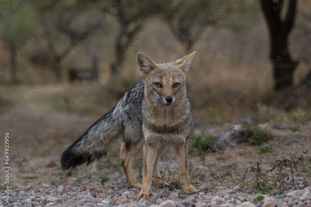
M 106 155 L 122 137 L 122 113 L 123 99 L 63 152 L 62 168 L 65 170 L 83 163 L 89 164 L 96 158 Z

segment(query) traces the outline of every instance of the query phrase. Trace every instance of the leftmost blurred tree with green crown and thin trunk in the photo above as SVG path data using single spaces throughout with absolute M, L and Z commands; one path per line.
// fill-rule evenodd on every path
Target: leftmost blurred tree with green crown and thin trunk
M 35 10 L 28 2 L 0 1 L 0 38 L 10 49 L 11 81 L 18 82 L 16 57 L 35 41 Z

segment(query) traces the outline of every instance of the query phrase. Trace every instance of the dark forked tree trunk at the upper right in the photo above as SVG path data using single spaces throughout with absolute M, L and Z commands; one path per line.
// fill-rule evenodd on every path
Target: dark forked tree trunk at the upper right
M 270 65 L 274 69 L 274 88 L 280 90 L 292 85 L 293 73 L 298 64 L 291 59 L 287 49 L 292 47 L 290 44 L 295 44 L 295 40 L 288 42 L 288 36 L 294 25 L 297 1 L 260 0 L 260 2 L 270 32 L 270 58 L 272 59 Z M 288 5 L 285 5 L 286 2 Z M 287 12 L 282 18 L 282 10 L 285 8 Z

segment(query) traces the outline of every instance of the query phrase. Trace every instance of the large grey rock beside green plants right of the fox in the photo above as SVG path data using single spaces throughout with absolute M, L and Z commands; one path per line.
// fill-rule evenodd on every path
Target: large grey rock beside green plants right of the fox
M 218 137 L 214 146 L 219 150 L 225 150 L 228 147 L 233 147 L 241 142 L 244 142 L 244 131 L 237 125 L 222 131 L 216 135 Z

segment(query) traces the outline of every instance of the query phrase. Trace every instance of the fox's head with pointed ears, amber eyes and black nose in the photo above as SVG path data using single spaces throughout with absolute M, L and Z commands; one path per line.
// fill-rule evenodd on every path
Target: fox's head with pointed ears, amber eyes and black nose
M 171 106 L 187 92 L 186 72 L 196 52 L 175 62 L 155 63 L 143 53 L 138 53 L 136 63 L 139 74 L 145 80 L 145 96 L 154 104 Z

